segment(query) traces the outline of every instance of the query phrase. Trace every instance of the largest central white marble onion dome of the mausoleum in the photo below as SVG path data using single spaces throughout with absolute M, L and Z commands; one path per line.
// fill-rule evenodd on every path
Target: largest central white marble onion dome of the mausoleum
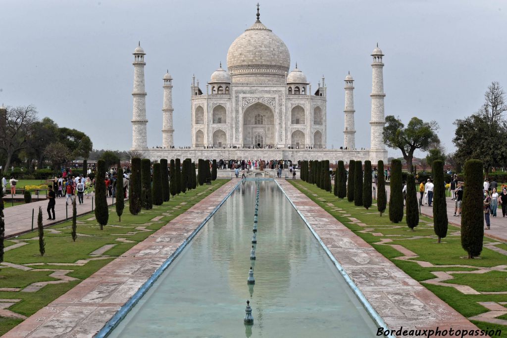
M 283 76 L 284 80 L 290 66 L 287 46 L 260 20 L 239 35 L 227 52 L 227 68 L 233 77 L 262 73 Z

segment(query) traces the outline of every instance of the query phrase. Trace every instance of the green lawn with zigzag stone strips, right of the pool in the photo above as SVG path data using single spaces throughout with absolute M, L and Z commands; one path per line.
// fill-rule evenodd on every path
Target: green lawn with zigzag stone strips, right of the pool
M 420 222 L 419 226 L 415 228 L 415 231 L 410 232 L 407 224 L 405 223 L 405 218 L 401 223 L 397 224 L 394 224 L 389 220 L 388 209 L 385 211 L 383 216 L 380 217 L 376 205 L 372 205 L 369 210 L 366 210 L 363 207 L 355 206 L 353 202 L 348 202 L 347 199 L 341 200 L 333 194 L 319 189 L 313 184 L 300 180 L 289 180 L 289 182 L 291 182 L 291 184 L 307 195 L 324 210 L 327 210 L 357 236 L 370 243 L 377 251 L 390 259 L 397 267 L 405 271 L 415 280 L 421 282 L 422 285 L 427 287 L 431 292 L 436 294 L 463 316 L 472 317 L 489 311 L 478 304 L 478 302 L 507 302 L 507 294 L 470 295 L 463 294 L 453 287 L 424 283 L 425 280 L 436 278 L 435 275 L 431 274 L 432 271 L 458 271 L 463 273 L 451 274 L 454 278 L 446 281 L 446 283 L 468 285 L 479 292 L 507 291 L 507 270 L 502 267 L 498 268 L 500 271 L 485 270 L 484 273 L 480 274 L 465 273 L 467 271 L 478 271 L 481 268 L 488 269 L 497 266 L 507 266 L 507 256 L 496 251 L 483 248 L 480 258 L 467 259 L 467 254 L 461 247 L 460 229 L 458 227 L 449 225 L 447 237 L 442 240 L 443 243 L 438 244 L 437 236 L 434 235 L 433 224 L 429 217 L 420 217 L 422 221 L 426 222 Z M 313 194 L 316 194 L 317 196 L 313 196 Z M 333 210 L 334 208 L 329 206 L 328 203 L 332 203 L 341 210 Z M 373 203 L 376 203 L 376 201 L 374 200 Z M 352 223 L 349 217 L 343 216 L 343 214 L 350 214 L 349 217 L 360 220 L 361 222 L 367 224 L 368 227 L 361 227 Z M 372 230 L 366 233 L 359 232 L 364 231 L 365 229 Z M 422 238 L 410 239 L 413 236 Z M 380 242 L 383 238 L 392 240 L 392 242 L 387 244 L 404 246 L 418 255 L 418 257 L 411 258 L 411 260 L 431 262 L 434 267 L 423 268 L 415 261 L 412 262 L 410 260 L 396 259 L 396 257 L 403 256 L 400 251 L 389 245 L 375 244 Z M 484 242 L 495 241 L 485 237 Z M 496 246 L 503 249 L 506 249 L 507 247 L 505 244 L 497 244 Z M 450 265 L 451 267 L 442 267 L 443 265 Z M 507 319 L 507 316 L 505 316 L 505 318 L 499 318 Z M 479 321 L 474 321 L 474 324 L 481 329 L 501 329 L 501 336 L 507 337 L 506 325 Z

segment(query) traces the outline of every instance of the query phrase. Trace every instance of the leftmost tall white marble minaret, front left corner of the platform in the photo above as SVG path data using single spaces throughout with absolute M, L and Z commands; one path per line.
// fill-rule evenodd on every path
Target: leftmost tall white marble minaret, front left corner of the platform
M 132 109 L 132 149 L 145 149 L 148 147 L 146 134 L 146 91 L 144 91 L 144 51 L 141 43 L 135 49 L 134 53 L 134 89 L 132 97 L 134 98 Z

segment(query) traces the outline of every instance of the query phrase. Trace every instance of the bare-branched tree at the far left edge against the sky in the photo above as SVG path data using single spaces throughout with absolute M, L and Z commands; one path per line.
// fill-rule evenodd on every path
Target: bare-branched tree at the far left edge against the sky
M 6 154 L 6 170 L 11 165 L 12 156 L 27 147 L 27 140 L 37 121 L 35 106 L 7 107 L 7 115 L 0 117 L 0 149 Z

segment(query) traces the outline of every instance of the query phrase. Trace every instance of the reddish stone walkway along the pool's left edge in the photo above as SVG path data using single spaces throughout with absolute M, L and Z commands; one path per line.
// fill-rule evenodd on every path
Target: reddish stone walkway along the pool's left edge
M 174 218 L 3 337 L 95 335 L 209 215 L 217 201 L 223 200 L 236 184 L 236 180 L 227 182 L 188 212 Z M 80 263 L 83 264 L 76 262 Z M 62 276 L 60 274 L 55 278 Z M 16 299 L 9 299 L 10 305 L 15 301 Z M 0 301 L 0 311 L 10 305 L 4 305 Z

